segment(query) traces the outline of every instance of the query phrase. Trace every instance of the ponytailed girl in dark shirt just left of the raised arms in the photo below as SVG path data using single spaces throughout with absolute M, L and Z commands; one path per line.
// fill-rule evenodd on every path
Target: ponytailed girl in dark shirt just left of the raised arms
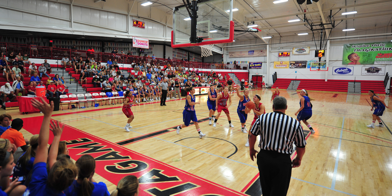
M 29 140 L 29 147 L 26 152 L 18 159 L 14 167 L 15 177 L 27 176 L 33 169 L 35 153 L 38 147 L 38 134 L 33 135 Z M 21 183 L 23 185 L 23 183 Z

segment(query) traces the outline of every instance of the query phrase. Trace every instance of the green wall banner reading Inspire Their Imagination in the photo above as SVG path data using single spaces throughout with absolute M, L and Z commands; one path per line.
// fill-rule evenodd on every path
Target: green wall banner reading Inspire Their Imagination
M 342 64 L 392 64 L 392 42 L 345 44 Z

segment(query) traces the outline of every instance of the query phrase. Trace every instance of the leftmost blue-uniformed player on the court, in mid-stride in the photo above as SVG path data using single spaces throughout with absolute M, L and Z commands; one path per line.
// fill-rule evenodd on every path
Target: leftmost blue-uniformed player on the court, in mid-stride
M 185 100 L 185 109 L 182 112 L 182 118 L 183 118 L 183 124 L 177 127 L 177 134 L 180 134 L 180 130 L 182 128 L 188 127 L 189 123 L 191 123 L 191 120 L 195 124 L 196 130 L 199 133 L 199 137 L 202 138 L 205 136 L 200 131 L 200 126 L 197 122 L 197 117 L 196 117 L 196 111 L 195 111 L 195 106 L 196 104 L 200 104 L 200 102 L 196 102 L 196 97 L 193 95 L 195 93 L 195 88 L 194 87 L 187 87 L 185 91 L 189 92 L 187 95 L 187 98 Z

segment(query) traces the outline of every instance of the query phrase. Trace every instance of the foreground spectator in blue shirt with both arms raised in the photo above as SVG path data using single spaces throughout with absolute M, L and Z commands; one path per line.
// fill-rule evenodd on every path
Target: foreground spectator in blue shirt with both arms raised
M 54 138 L 52 147 L 48 153 L 49 123 L 53 112 L 53 104 L 48 105 L 43 98 L 41 98 L 41 101 L 44 103 L 35 99 L 32 100 L 33 106 L 44 113 L 44 119 L 38 136 L 38 148 L 31 171 L 33 177 L 27 186 L 26 192 L 29 193 L 30 196 L 64 195 L 63 191 L 67 189 L 76 178 L 78 168 L 68 158 L 56 160 L 58 144 L 64 128 L 64 126 L 60 127 L 58 122 L 53 123 L 52 128 L 50 129 L 53 132 Z

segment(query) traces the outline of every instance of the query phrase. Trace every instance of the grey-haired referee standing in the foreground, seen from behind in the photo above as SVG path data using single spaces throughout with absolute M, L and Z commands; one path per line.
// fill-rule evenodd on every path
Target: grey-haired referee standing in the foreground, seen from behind
M 250 159 L 256 157 L 254 143 L 260 135 L 260 152 L 257 165 L 260 172 L 260 184 L 263 196 L 287 195 L 290 185 L 291 169 L 301 165 L 305 153 L 306 140 L 302 127 L 297 120 L 285 114 L 287 100 L 282 96 L 274 98 L 272 113 L 262 114 L 250 129 Z M 290 154 L 296 145 L 297 157 L 292 160 Z

